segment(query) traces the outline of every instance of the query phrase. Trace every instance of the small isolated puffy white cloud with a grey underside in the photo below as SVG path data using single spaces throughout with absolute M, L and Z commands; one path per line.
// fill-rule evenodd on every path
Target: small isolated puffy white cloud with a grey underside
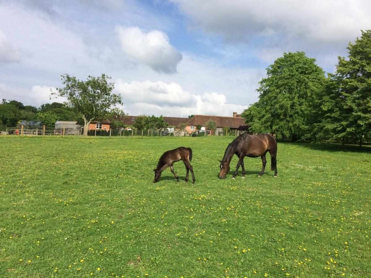
M 182 55 L 169 43 L 168 36 L 160 31 L 144 33 L 138 27 L 116 27 L 122 51 L 139 63 L 157 72 L 174 73 Z

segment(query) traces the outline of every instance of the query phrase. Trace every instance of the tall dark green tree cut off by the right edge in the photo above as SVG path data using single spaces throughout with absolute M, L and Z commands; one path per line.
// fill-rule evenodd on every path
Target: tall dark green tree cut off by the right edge
M 338 57 L 332 76 L 336 89 L 329 97 L 332 118 L 322 122 L 330 139 L 358 139 L 359 146 L 364 137 L 371 138 L 371 30 L 361 32 L 361 38 L 347 47 L 348 59 Z

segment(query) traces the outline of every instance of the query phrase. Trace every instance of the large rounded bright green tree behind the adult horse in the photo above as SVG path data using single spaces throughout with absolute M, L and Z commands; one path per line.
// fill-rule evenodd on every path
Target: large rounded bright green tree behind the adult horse
M 325 72 L 304 52 L 288 52 L 267 68 L 259 100 L 242 116 L 252 132 L 279 133 L 296 140 L 309 130 L 313 102 L 325 86 Z

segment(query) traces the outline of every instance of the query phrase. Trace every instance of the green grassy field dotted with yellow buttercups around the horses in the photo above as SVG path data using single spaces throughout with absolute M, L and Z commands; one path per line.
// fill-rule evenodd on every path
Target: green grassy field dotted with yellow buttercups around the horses
M 278 178 L 220 180 L 232 139 L 1 136 L 0 276 L 370 277 L 371 148 L 279 142 Z M 152 183 L 178 146 L 196 183 Z

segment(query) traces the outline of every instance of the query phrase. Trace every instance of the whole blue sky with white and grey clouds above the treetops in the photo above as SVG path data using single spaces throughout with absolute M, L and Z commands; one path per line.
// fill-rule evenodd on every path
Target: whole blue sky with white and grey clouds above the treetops
M 367 29 L 369 0 L 0 0 L 0 99 L 106 73 L 129 115 L 231 116 L 284 52 L 334 72 Z

